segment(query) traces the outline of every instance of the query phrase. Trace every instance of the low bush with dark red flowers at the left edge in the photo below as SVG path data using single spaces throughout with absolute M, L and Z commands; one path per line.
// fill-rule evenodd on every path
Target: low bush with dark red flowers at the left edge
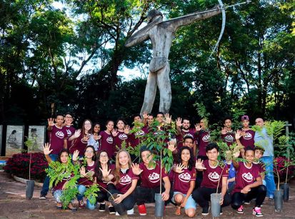
M 29 161 L 30 153 L 17 153 L 9 158 L 4 166 L 6 173 L 14 174 L 21 178 L 29 179 Z M 44 158 L 43 153 L 31 154 L 31 178 L 43 182 L 46 173 L 45 168 L 48 163 Z

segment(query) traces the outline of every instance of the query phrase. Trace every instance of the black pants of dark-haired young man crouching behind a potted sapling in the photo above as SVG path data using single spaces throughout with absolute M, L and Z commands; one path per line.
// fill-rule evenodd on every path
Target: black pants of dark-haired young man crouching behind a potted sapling
M 218 192 L 221 192 L 221 188 L 219 188 Z M 209 207 L 209 201 L 211 200 L 211 194 L 216 193 L 216 188 L 206 188 L 201 187 L 197 188 L 193 191 L 192 197 L 198 203 L 202 208 Z M 221 207 L 227 206 L 231 203 L 231 195 L 229 193 L 226 193 L 224 195 L 224 203 L 221 205 Z

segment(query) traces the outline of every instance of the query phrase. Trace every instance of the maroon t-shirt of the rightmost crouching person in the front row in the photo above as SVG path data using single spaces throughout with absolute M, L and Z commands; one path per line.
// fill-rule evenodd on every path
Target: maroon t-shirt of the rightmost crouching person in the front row
M 236 169 L 236 185 L 232 193 L 240 193 L 246 185 L 254 183 L 258 177 L 260 175 L 257 165 L 252 163 L 248 168 L 244 162 L 239 162 L 239 168 Z

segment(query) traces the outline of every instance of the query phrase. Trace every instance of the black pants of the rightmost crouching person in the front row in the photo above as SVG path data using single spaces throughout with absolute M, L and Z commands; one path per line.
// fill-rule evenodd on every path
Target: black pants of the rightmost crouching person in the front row
M 266 186 L 265 185 L 259 185 L 255 188 L 251 188 L 249 193 L 234 193 L 231 195 L 231 207 L 234 209 L 238 209 L 243 201 L 250 201 L 253 198 L 256 198 L 255 207 L 261 206 L 261 204 L 264 202 L 264 198 L 266 196 Z

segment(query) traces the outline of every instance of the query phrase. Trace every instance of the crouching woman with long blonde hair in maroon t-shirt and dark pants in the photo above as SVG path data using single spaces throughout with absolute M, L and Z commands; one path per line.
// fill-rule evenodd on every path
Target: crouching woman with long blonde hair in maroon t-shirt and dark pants
M 111 194 L 119 194 L 114 200 L 115 203 L 122 203 L 127 215 L 134 214 L 134 190 L 139 177 L 131 169 L 131 158 L 127 151 L 120 150 L 116 154 L 116 168 L 114 170 L 114 185 L 108 186 Z M 109 193 L 107 194 L 109 198 Z M 117 215 L 117 213 L 116 213 Z

